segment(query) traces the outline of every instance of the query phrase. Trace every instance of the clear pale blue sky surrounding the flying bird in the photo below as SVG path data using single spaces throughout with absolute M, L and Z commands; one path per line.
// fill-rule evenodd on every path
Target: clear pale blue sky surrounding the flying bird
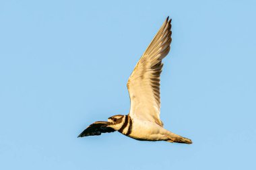
M 256 169 L 255 1 L 0 1 L 0 169 Z M 164 127 L 193 144 L 77 138 L 129 113 L 170 15 Z

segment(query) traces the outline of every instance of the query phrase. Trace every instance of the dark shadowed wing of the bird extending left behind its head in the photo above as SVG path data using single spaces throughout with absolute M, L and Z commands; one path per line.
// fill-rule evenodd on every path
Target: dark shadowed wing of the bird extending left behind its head
M 104 121 L 98 121 L 94 122 L 86 130 L 84 130 L 77 138 L 84 137 L 84 136 L 94 136 L 94 135 L 100 135 L 101 133 L 109 133 L 109 132 L 115 132 L 113 128 L 106 127 L 108 122 Z

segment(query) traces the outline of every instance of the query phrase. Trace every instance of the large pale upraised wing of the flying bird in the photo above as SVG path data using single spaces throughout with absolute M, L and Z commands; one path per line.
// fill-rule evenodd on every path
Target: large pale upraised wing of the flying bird
M 170 51 L 171 19 L 166 21 L 143 53 L 127 82 L 131 108 L 129 116 L 156 122 L 160 120 L 160 73 L 162 58 Z

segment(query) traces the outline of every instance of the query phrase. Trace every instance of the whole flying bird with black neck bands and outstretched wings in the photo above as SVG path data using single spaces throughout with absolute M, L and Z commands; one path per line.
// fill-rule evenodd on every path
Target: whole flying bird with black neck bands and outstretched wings
M 171 21 L 169 17 L 165 19 L 128 79 L 129 114 L 94 122 L 77 138 L 118 131 L 136 140 L 192 144 L 189 138 L 166 130 L 160 120 L 160 74 L 162 59 L 170 51 L 172 42 Z

